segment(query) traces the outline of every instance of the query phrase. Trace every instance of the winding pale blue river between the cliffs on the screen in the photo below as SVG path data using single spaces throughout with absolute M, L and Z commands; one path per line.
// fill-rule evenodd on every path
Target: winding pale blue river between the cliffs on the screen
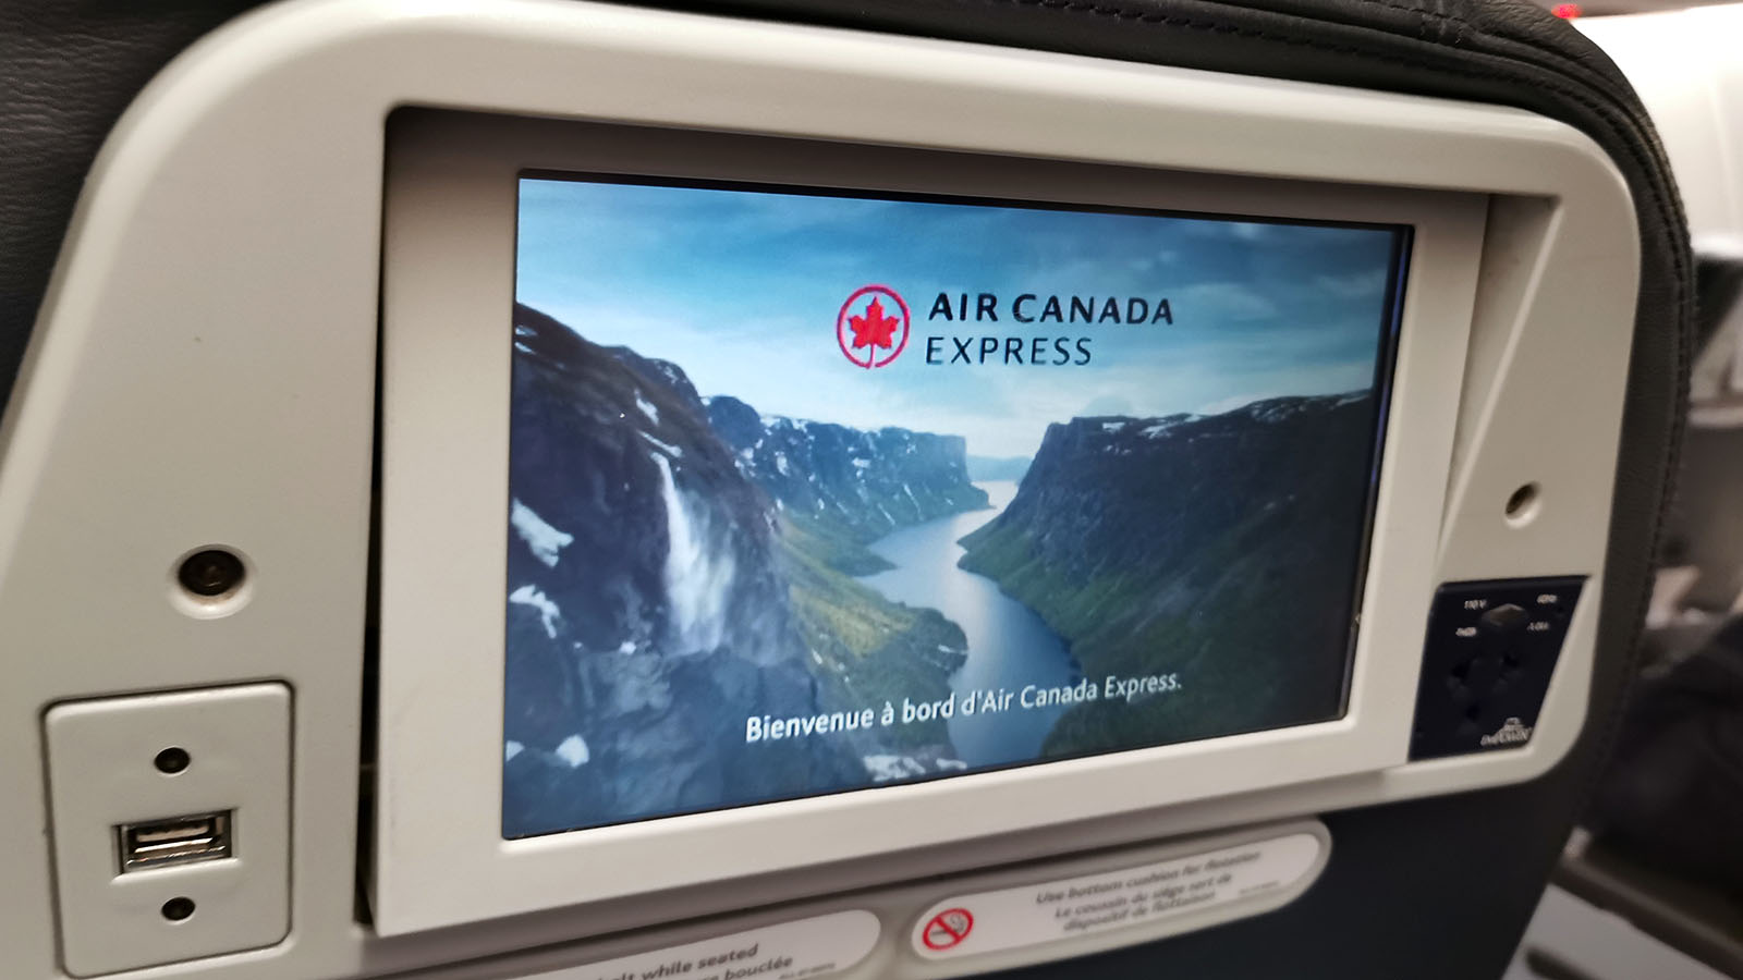
M 1006 689 L 1016 694 L 1030 684 L 1075 684 L 1077 663 L 1058 633 L 1027 605 L 999 591 L 992 579 L 957 568 L 962 558 L 957 539 L 999 516 L 1016 495 L 1014 481 L 976 487 L 987 492 L 994 509 L 938 518 L 873 541 L 872 551 L 896 567 L 859 581 L 894 602 L 936 609 L 962 626 L 969 638 L 967 663 L 950 677 L 959 701 L 969 692 Z M 1011 701 L 1009 710 L 990 715 L 957 711 L 948 722 L 950 741 L 969 766 L 1030 762 L 1067 708 L 1020 708 Z

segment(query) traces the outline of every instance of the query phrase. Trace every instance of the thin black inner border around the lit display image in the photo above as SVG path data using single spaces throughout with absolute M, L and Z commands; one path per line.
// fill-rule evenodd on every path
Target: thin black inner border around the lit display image
M 722 809 L 734 809 L 734 807 L 743 807 L 743 806 L 765 806 L 765 804 L 772 804 L 772 802 L 784 802 L 784 800 L 797 800 L 797 799 L 812 799 L 812 797 L 831 795 L 831 793 L 851 793 L 851 792 L 861 792 L 861 790 L 870 790 L 870 788 L 878 788 L 878 786 L 889 786 L 889 785 L 906 785 L 906 783 L 920 783 L 920 781 L 955 779 L 955 778 L 960 778 L 964 774 L 973 774 L 973 772 L 994 772 L 994 771 L 1004 771 L 1004 769 L 1021 769 L 1021 767 L 1028 767 L 1028 766 L 1048 766 L 1048 764 L 1067 762 L 1067 760 L 1075 760 L 1075 759 L 1093 759 L 1093 757 L 1098 757 L 1098 755 L 1112 755 L 1112 753 L 1121 753 L 1121 752 L 1136 752 L 1136 750 L 1143 750 L 1143 748 L 1161 748 L 1164 745 L 1185 745 L 1187 741 L 1204 741 L 1208 738 L 1229 738 L 1229 736 L 1236 736 L 1236 734 L 1253 734 L 1253 732 L 1265 732 L 1265 731 L 1293 729 L 1293 727 L 1302 727 L 1302 725 L 1309 725 L 1309 724 L 1323 724 L 1323 722 L 1339 720 L 1344 715 L 1347 715 L 1347 711 L 1349 711 L 1349 680 L 1351 680 L 1351 671 L 1353 671 L 1353 666 L 1354 666 L 1356 643 L 1360 640 L 1358 624 L 1361 621 L 1363 586 L 1365 586 L 1367 572 L 1368 572 L 1368 549 L 1370 549 L 1370 544 L 1372 544 L 1372 539 L 1373 539 L 1373 516 L 1375 516 L 1375 502 L 1377 502 L 1377 497 L 1379 497 L 1379 467 L 1384 462 L 1384 441 L 1386 441 L 1386 429 L 1387 429 L 1387 413 L 1389 413 L 1389 408 L 1391 408 L 1391 387 L 1393 387 L 1393 375 L 1394 375 L 1394 368 L 1396 368 L 1398 324 L 1400 324 L 1400 312 L 1401 312 L 1401 307 L 1403 307 L 1403 291 L 1405 291 L 1405 286 L 1408 284 L 1408 274 L 1410 274 L 1410 249 L 1412 249 L 1412 227 L 1410 225 L 1373 223 L 1373 221 L 1333 221 L 1333 220 L 1312 220 L 1312 218 L 1299 218 L 1299 216 L 1286 216 L 1285 218 L 1285 216 L 1258 216 L 1258 214 L 1213 214 L 1213 213 L 1203 213 L 1203 211 L 1178 211 L 1178 209 L 1161 209 L 1161 208 L 1133 208 L 1133 206 L 1112 206 L 1112 204 L 1091 206 L 1091 204 L 1065 202 L 1065 201 L 1011 201 L 1011 199 L 976 197 L 976 195 L 966 195 L 966 194 L 964 195 L 945 195 L 945 194 L 917 194 L 917 192 L 868 192 L 865 188 L 844 188 L 844 187 L 824 187 L 824 185 L 791 185 L 791 183 L 718 180 L 718 178 L 645 176 L 645 174 L 622 174 L 622 173 L 553 171 L 553 169 L 532 169 L 532 167 L 521 171 L 516 176 L 516 187 L 518 187 L 516 211 L 518 213 L 519 213 L 519 194 L 525 192 L 523 181 L 528 181 L 528 180 L 591 183 L 591 185 L 624 185 L 624 187 L 638 187 L 638 188 L 648 188 L 648 187 L 652 187 L 652 188 L 675 188 L 675 190 L 725 190 L 725 192 L 749 192 L 749 194 L 781 194 L 781 195 L 824 197 L 824 199 L 912 201 L 912 202 L 926 202 L 926 204 L 950 204 L 950 206 L 962 206 L 962 208 L 1037 209 L 1037 211 L 1056 211 L 1056 213 L 1122 214 L 1122 216 L 1138 216 L 1138 218 L 1170 218 L 1170 220 L 1194 220 L 1194 221 L 1238 221 L 1238 223 L 1285 225 L 1285 227 L 1288 227 L 1288 225 L 1299 225 L 1299 227 L 1314 227 L 1314 228 L 1360 228 L 1360 230 L 1370 230 L 1370 232 L 1384 232 L 1384 234 L 1387 234 L 1391 237 L 1391 255 L 1389 255 L 1389 260 L 1387 260 L 1387 265 L 1386 265 L 1386 270 L 1384 270 L 1386 272 L 1384 293 L 1380 296 L 1380 305 L 1379 305 L 1379 310 L 1375 314 L 1373 328 L 1372 328 L 1372 331 L 1373 331 L 1372 333 L 1372 337 L 1373 337 L 1373 368 L 1372 368 L 1372 387 L 1370 387 L 1370 391 L 1373 394 L 1373 401 L 1375 401 L 1375 408 L 1377 408 L 1377 417 L 1375 417 L 1375 422 L 1373 422 L 1372 429 L 1368 431 L 1368 439 L 1365 443 L 1365 452 L 1367 452 L 1365 492 L 1367 492 L 1367 497 L 1363 500 L 1361 520 L 1360 520 L 1360 528 L 1358 528 L 1358 535 L 1360 535 L 1358 555 L 1356 555 L 1354 561 L 1349 567 L 1351 603 L 1349 603 L 1349 609 L 1346 610 L 1346 617 L 1349 621 L 1349 628 L 1347 628 L 1347 631 L 1344 635 L 1342 663 L 1337 668 L 1339 670 L 1339 673 L 1337 673 L 1337 691 L 1339 691 L 1337 692 L 1337 704 L 1335 704 L 1335 708 L 1326 717 L 1314 718 L 1314 720 L 1306 720 L 1306 722 L 1302 722 L 1302 720 L 1290 720 L 1290 722 L 1281 722 L 1281 724 L 1267 724 L 1267 725 L 1258 725 L 1258 727 L 1245 727 L 1245 729 L 1238 729 L 1238 731 L 1231 731 L 1231 732 L 1222 732 L 1222 734 L 1217 734 L 1217 736 L 1201 736 L 1201 738 L 1164 741 L 1164 743 L 1154 743 L 1154 745 L 1135 745 L 1135 746 L 1124 746 L 1124 748 L 1107 748 L 1107 750 L 1098 750 L 1098 752 L 1077 752 L 1077 753 L 1070 753 L 1070 755 L 1046 757 L 1046 759 L 1037 757 L 1037 759 L 1021 760 L 1021 762 L 1004 762 L 1004 764 L 997 764 L 997 766 L 974 767 L 974 769 L 969 769 L 967 772 L 933 772 L 933 774 L 917 776 L 917 778 L 910 778 L 910 779 L 899 779 L 899 781 L 866 783 L 865 786 L 830 788 L 830 790 L 817 790 L 817 792 L 809 792 L 809 793 L 793 793 L 793 795 L 769 797 L 769 799 L 763 799 L 763 800 L 749 800 L 749 802 L 729 802 L 729 804 L 722 804 L 718 807 L 708 807 L 708 809 L 682 809 L 682 811 L 673 811 L 673 813 L 629 814 L 629 816 L 622 816 L 622 818 L 608 820 L 608 821 L 601 821 L 601 823 L 587 823 L 587 825 L 568 827 L 568 828 L 561 828 L 560 827 L 560 828 L 553 828 L 553 830 L 535 830 L 535 832 L 519 834 L 519 835 L 511 835 L 511 834 L 504 832 L 504 839 L 505 840 L 525 840 L 525 839 L 530 839 L 530 837 L 544 837 L 544 835 L 551 835 L 551 834 L 577 834 L 577 832 L 586 832 L 586 830 L 596 830 L 600 827 L 617 827 L 617 825 L 622 825 L 622 823 L 636 823 L 636 821 L 643 821 L 643 820 L 668 820 L 668 818 L 675 818 L 675 816 L 687 816 L 687 814 L 695 814 L 695 813 L 716 813 L 716 811 L 722 811 Z M 519 234 L 518 234 L 518 228 L 516 228 L 516 270 L 519 267 L 519 260 L 521 260 L 521 256 L 519 256 Z M 519 295 L 516 291 L 516 302 L 519 302 L 519 300 L 521 298 L 519 298 Z M 512 337 L 505 333 L 504 335 L 504 342 L 511 342 L 511 340 L 512 340 Z M 512 356 L 511 356 L 511 370 L 512 370 Z M 922 429 L 924 429 L 924 425 L 922 425 Z M 512 459 L 511 459 L 511 464 L 512 464 Z M 514 492 L 514 485 L 512 485 L 512 480 L 511 480 L 511 483 L 509 483 L 509 493 L 512 495 L 512 492 Z M 504 518 L 504 528 L 507 528 L 507 518 Z M 505 530 L 505 535 L 507 535 L 507 530 Z M 507 537 L 509 537 L 509 541 L 507 541 L 505 546 L 512 549 L 514 548 L 512 535 L 507 535 Z M 504 591 L 509 591 L 509 588 L 512 588 L 512 584 L 514 582 L 511 579 L 505 579 L 504 581 Z M 507 704 L 504 704 L 504 710 L 507 710 Z M 504 736 L 504 738 L 507 738 L 507 736 Z M 504 814 L 504 821 L 505 820 L 507 820 L 507 816 Z

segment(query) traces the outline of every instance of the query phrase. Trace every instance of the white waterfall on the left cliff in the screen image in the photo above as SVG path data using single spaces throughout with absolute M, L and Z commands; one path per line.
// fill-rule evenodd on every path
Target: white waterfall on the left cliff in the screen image
M 648 453 L 661 474 L 666 502 L 666 603 L 675 652 L 713 650 L 727 631 L 727 595 L 732 591 L 734 561 L 730 551 L 709 541 L 708 511 L 692 504 L 673 480 L 671 462 Z

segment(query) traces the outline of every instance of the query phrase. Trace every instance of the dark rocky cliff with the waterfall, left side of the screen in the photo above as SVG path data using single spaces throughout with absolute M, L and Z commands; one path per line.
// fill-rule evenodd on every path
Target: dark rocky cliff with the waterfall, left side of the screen
M 746 745 L 749 715 L 943 691 L 966 645 L 936 612 L 830 568 L 753 459 L 722 439 L 676 364 L 516 305 L 505 835 L 856 786 L 891 759 L 906 774 L 950 760 L 941 724 Z M 790 469 L 795 459 L 828 462 L 817 446 Z M 830 473 L 805 481 L 817 500 L 847 493 Z

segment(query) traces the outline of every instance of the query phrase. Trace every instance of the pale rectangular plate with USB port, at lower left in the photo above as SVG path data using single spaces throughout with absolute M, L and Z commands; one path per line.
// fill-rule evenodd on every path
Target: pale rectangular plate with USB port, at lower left
M 75 701 L 51 708 L 44 727 L 68 973 L 286 936 L 288 687 Z

